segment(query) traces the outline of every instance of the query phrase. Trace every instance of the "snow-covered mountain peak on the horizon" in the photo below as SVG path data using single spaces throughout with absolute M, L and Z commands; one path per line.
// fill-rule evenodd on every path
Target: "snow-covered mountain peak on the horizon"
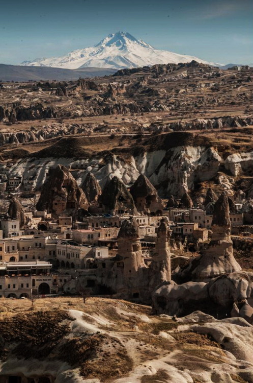
M 117 32 L 108 35 L 93 47 L 78 49 L 62 57 L 23 61 L 21 65 L 51 66 L 66 69 L 85 67 L 122 69 L 154 64 L 178 64 L 179 62 L 190 62 L 192 60 L 209 65 L 221 65 L 207 62 L 193 56 L 160 51 L 143 40 L 137 40 L 129 33 Z

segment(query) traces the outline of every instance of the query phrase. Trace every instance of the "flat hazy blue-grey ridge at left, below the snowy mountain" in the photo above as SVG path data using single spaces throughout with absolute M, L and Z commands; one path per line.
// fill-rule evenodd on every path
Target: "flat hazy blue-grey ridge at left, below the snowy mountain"
M 0 64 L 0 80 L 2 81 L 40 81 L 58 80 L 70 81 L 77 80 L 79 77 L 91 78 L 96 76 L 113 75 L 116 69 L 112 68 L 83 68 L 78 70 L 50 68 L 47 66 L 21 66 Z

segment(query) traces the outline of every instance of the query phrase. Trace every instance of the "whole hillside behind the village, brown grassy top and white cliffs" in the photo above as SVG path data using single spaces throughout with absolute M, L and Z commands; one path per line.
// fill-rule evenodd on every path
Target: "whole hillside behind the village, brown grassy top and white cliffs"
M 159 196 L 182 197 L 192 193 L 201 198 L 208 187 L 218 193 L 227 190 L 247 192 L 251 183 L 240 182 L 250 175 L 253 130 L 211 134 L 175 132 L 159 135 L 72 136 L 47 141 L 44 146 L 26 144 L 20 158 L 10 169 L 11 176 L 32 178 L 40 190 L 50 167 L 65 165 L 82 185 L 91 172 L 103 188 L 117 176 L 131 186 L 144 174 L 158 190 Z M 16 149 L 0 152 L 3 158 L 14 158 Z

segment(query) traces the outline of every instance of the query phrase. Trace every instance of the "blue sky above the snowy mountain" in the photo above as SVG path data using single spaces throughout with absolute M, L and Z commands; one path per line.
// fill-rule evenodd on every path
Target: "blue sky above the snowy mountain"
M 61 56 L 109 33 L 220 63 L 253 63 L 252 0 L 4 0 L 0 63 Z

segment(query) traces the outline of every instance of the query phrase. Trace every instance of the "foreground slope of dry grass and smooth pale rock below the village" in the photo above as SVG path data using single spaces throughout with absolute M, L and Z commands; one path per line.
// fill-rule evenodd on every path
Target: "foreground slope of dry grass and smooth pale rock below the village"
M 1 298 L 0 376 L 63 383 L 253 382 L 253 327 L 89 298 Z

